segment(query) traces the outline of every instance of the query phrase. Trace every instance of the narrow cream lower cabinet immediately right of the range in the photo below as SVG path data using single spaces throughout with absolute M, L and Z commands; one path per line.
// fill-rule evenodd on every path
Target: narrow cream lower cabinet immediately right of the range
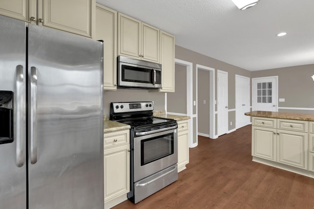
M 188 120 L 178 121 L 178 172 L 189 163 Z

